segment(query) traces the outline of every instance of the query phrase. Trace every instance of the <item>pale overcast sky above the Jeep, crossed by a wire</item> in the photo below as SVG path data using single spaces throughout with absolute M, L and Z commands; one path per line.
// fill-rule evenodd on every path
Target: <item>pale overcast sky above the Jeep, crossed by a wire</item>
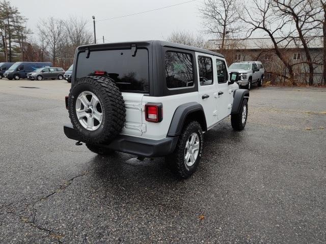
M 189 0 L 9 0 L 18 7 L 22 15 L 29 18 L 28 27 L 36 33 L 36 25 L 41 18 L 55 16 L 66 19 L 69 15 L 84 16 L 92 21 L 175 5 Z M 96 23 L 96 38 L 102 42 L 130 40 L 162 40 L 174 30 L 196 33 L 201 30 L 198 7 L 201 0 L 161 9 L 149 13 L 128 16 Z M 88 27 L 93 31 L 93 23 Z M 35 36 L 36 38 L 36 36 Z

